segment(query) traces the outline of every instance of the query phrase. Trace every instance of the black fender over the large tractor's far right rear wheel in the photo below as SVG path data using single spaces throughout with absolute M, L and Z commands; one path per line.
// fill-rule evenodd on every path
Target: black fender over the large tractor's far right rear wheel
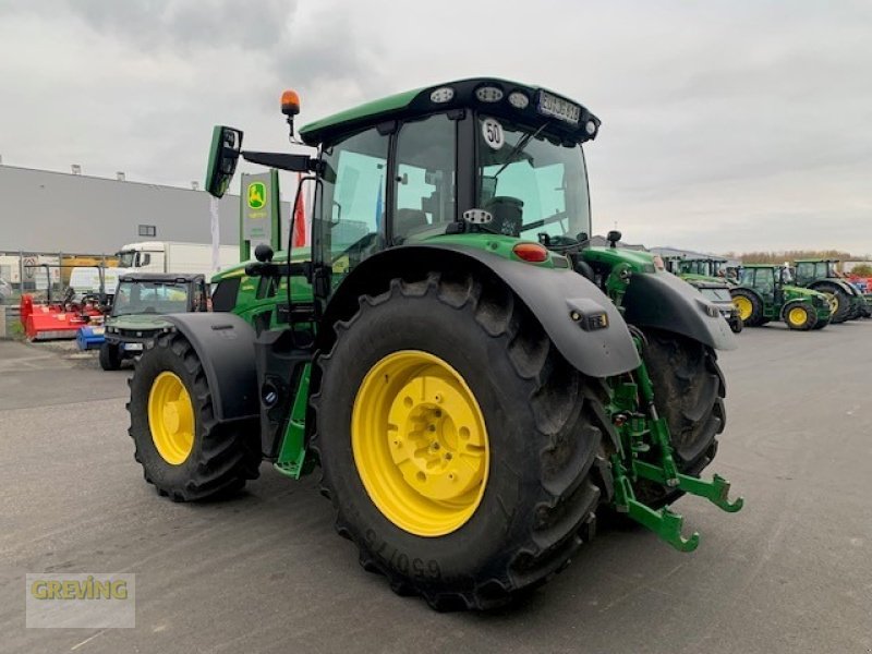
M 727 322 L 700 292 L 670 272 L 638 272 L 623 295 L 625 319 L 637 327 L 674 331 L 716 350 L 735 350 Z

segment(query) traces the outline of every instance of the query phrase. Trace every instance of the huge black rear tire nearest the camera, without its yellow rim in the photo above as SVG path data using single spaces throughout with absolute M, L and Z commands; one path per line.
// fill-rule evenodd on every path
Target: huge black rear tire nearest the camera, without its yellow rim
M 395 592 L 421 595 L 438 610 L 504 605 L 566 567 L 593 536 L 601 497 L 594 479 L 605 470 L 603 384 L 570 366 L 498 280 L 435 272 L 415 282 L 395 279 L 385 293 L 363 295 L 336 334 L 318 362 L 311 447 L 337 511 L 336 529 L 358 546 L 361 565 L 384 574 Z M 479 504 L 459 526 L 429 537 L 378 508 L 376 498 L 386 498 L 365 486 L 353 449 L 361 389 L 379 378 L 367 374 L 410 351 L 434 355 L 462 377 L 487 435 L 489 465 Z M 385 393 L 389 401 L 399 397 Z M 386 435 L 396 433 L 389 424 Z M 389 460 L 385 469 L 393 474 Z

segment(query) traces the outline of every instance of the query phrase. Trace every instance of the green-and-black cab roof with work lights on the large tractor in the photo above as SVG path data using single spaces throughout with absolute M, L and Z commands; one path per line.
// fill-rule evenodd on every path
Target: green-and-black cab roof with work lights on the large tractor
M 487 92 L 485 94 L 482 92 L 485 88 L 496 88 L 498 93 Z M 476 95 L 476 92 L 479 92 L 479 95 Z M 569 122 L 568 120 L 553 118 L 543 113 L 540 110 L 542 94 L 547 94 L 579 107 L 578 121 Z M 496 100 L 485 101 L 481 99 L 480 96 L 482 95 L 492 98 L 499 97 Z M 514 98 L 514 104 L 509 100 L 510 96 Z M 523 107 L 518 106 L 523 104 L 520 96 L 526 99 L 526 104 Z M 306 145 L 330 144 L 347 134 L 370 125 L 463 108 L 480 109 L 487 112 L 487 114 L 529 123 L 536 128 L 547 122 L 549 124 L 544 130 L 545 132 L 574 143 L 594 138 L 601 124 L 600 119 L 588 111 L 580 102 L 570 100 L 548 89 L 497 77 L 473 77 L 414 88 L 334 113 L 302 128 L 300 137 Z M 591 121 L 593 121 L 593 126 L 589 128 L 588 123 Z M 591 134 L 589 130 L 592 130 L 593 133 Z

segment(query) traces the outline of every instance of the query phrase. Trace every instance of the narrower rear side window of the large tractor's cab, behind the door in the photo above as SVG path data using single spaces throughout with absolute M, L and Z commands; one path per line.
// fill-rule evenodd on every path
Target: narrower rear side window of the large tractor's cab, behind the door
M 397 137 L 393 241 L 455 220 L 456 123 L 438 113 L 408 122 Z

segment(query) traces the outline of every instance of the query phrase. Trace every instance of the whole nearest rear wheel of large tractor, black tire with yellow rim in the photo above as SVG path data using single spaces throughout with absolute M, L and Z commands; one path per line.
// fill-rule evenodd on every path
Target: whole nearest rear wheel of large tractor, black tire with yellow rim
M 593 535 L 604 387 L 496 280 L 395 279 L 336 327 L 311 446 L 361 565 L 439 610 L 502 605 L 562 569 Z M 477 481 L 450 480 L 436 452 L 468 458 Z

